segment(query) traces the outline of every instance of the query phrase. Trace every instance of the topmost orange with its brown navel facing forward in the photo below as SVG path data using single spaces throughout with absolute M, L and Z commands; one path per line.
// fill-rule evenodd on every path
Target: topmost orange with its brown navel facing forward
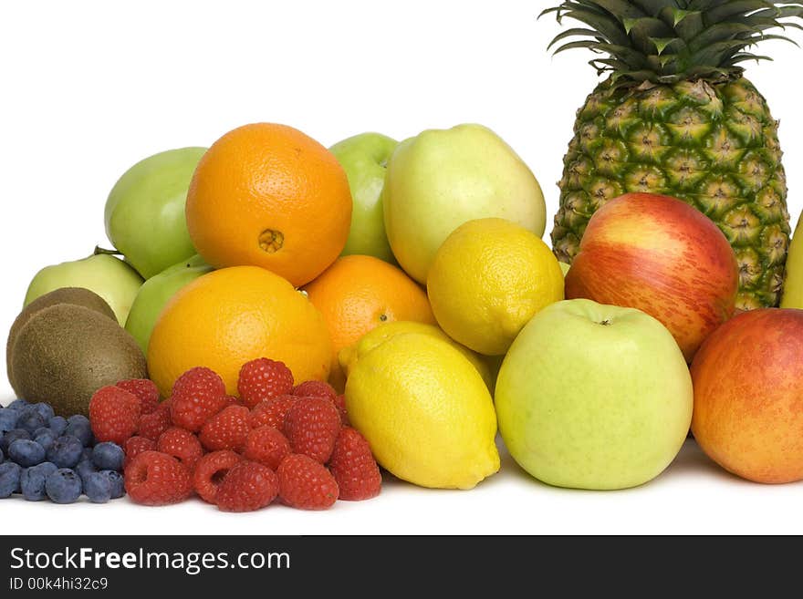
M 193 245 L 215 268 L 262 266 L 300 286 L 346 244 L 349 181 L 335 156 L 301 131 L 245 125 L 203 155 L 186 215 Z

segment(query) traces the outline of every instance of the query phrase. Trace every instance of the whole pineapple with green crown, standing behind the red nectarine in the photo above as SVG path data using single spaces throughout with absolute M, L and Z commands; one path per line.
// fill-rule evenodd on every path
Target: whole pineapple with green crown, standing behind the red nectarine
M 591 215 L 630 191 L 662 193 L 711 218 L 739 264 L 736 306 L 777 305 L 789 244 L 777 121 L 743 76 L 747 52 L 803 5 L 763 0 L 573 0 L 547 9 L 571 28 L 563 50 L 600 54 L 609 77 L 579 109 L 564 159 L 552 243 L 571 263 Z

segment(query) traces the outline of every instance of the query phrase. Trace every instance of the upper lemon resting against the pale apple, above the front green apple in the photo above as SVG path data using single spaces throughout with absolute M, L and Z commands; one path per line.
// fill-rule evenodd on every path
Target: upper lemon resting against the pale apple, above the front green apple
M 435 254 L 427 278 L 443 331 L 499 356 L 539 310 L 563 299 L 563 272 L 546 243 L 503 219 L 469 221 Z

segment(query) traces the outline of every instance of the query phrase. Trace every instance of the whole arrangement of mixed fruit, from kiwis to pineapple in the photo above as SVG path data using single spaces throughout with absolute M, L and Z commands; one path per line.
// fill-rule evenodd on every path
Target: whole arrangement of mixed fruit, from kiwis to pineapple
M 803 7 L 579 4 L 546 11 L 584 24 L 558 40 L 590 36 L 558 51 L 612 73 L 579 110 L 552 247 L 536 177 L 485 127 L 327 150 L 245 125 L 131 167 L 116 251 L 36 274 L 17 395 L 88 415 L 147 505 L 324 509 L 377 495 L 380 466 L 471 489 L 497 430 L 556 486 L 641 485 L 690 428 L 741 477 L 803 480 L 803 229 L 790 244 L 777 122 L 737 66 Z M 2 489 L 24 464 L 56 476 L 2 414 Z M 110 462 L 88 462 L 94 495 L 84 470 Z

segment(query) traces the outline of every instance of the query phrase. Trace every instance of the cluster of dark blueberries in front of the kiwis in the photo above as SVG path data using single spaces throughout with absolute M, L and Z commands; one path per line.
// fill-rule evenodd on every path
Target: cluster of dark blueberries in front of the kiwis
M 56 416 L 47 403 L 16 399 L 0 408 L 0 499 L 105 503 L 125 494 L 125 455 L 115 443 L 95 443 L 89 419 Z

